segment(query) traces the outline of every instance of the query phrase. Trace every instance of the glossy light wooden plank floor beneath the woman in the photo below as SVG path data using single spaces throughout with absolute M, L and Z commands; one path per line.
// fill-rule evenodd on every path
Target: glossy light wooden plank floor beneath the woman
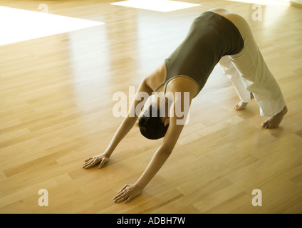
M 101 21 L 103 26 L 0 46 L 1 213 L 301 213 L 302 9 L 187 2 L 201 6 L 167 13 L 110 5 L 113 1 L 1 1 L 0 6 Z M 83 160 L 108 146 L 123 118 L 113 95 L 128 94 L 182 41 L 194 17 L 223 7 L 249 22 L 283 90 L 288 114 L 280 128 L 251 101 L 237 112 L 234 88 L 217 67 L 194 99 L 189 124 L 172 155 L 129 204 L 112 198 L 147 167 L 161 140 L 137 128 L 102 170 Z M 2 36 L 2 35 L 1 35 Z M 48 190 L 48 207 L 38 191 Z M 262 192 L 254 207 L 251 192 Z

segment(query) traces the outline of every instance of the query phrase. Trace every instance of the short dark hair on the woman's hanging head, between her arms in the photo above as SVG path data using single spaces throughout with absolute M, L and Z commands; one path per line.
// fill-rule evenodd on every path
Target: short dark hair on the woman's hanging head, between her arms
M 138 120 L 137 125 L 140 127 L 140 133 L 150 140 L 157 140 L 164 137 L 169 126 L 165 126 L 162 123 L 160 110 L 157 110 L 152 104 L 145 110 L 145 113 Z

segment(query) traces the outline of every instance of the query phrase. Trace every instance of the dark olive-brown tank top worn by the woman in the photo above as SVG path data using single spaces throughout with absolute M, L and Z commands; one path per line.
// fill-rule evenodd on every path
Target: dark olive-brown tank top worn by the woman
M 194 19 L 187 37 L 165 60 L 165 81 L 155 91 L 165 84 L 165 92 L 169 81 L 182 76 L 197 84 L 198 94 L 220 58 L 239 53 L 243 47 L 241 34 L 231 21 L 206 11 Z

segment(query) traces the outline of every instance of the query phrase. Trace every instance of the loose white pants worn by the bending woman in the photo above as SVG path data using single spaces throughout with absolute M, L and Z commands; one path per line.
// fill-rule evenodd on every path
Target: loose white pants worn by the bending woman
M 239 29 L 244 40 L 244 48 L 240 53 L 223 56 L 219 61 L 240 100 L 248 103 L 253 93 L 262 116 L 271 117 L 280 113 L 286 105 L 283 94 L 259 51 L 249 24 L 238 14 L 222 16 Z

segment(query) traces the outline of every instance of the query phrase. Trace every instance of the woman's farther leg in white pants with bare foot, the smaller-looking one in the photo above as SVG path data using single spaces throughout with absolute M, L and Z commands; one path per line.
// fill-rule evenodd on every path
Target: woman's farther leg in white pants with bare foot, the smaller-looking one
M 246 90 L 240 73 L 236 70 L 233 63 L 231 63 L 229 56 L 223 56 L 219 61 L 219 65 L 224 70 L 224 74 L 228 76 L 241 100 L 239 103 L 236 103 L 236 105 L 234 105 L 234 109 L 243 110 L 244 108 L 246 108 L 246 105 L 249 103 L 249 101 L 251 101 L 253 95 L 251 95 L 251 93 Z

